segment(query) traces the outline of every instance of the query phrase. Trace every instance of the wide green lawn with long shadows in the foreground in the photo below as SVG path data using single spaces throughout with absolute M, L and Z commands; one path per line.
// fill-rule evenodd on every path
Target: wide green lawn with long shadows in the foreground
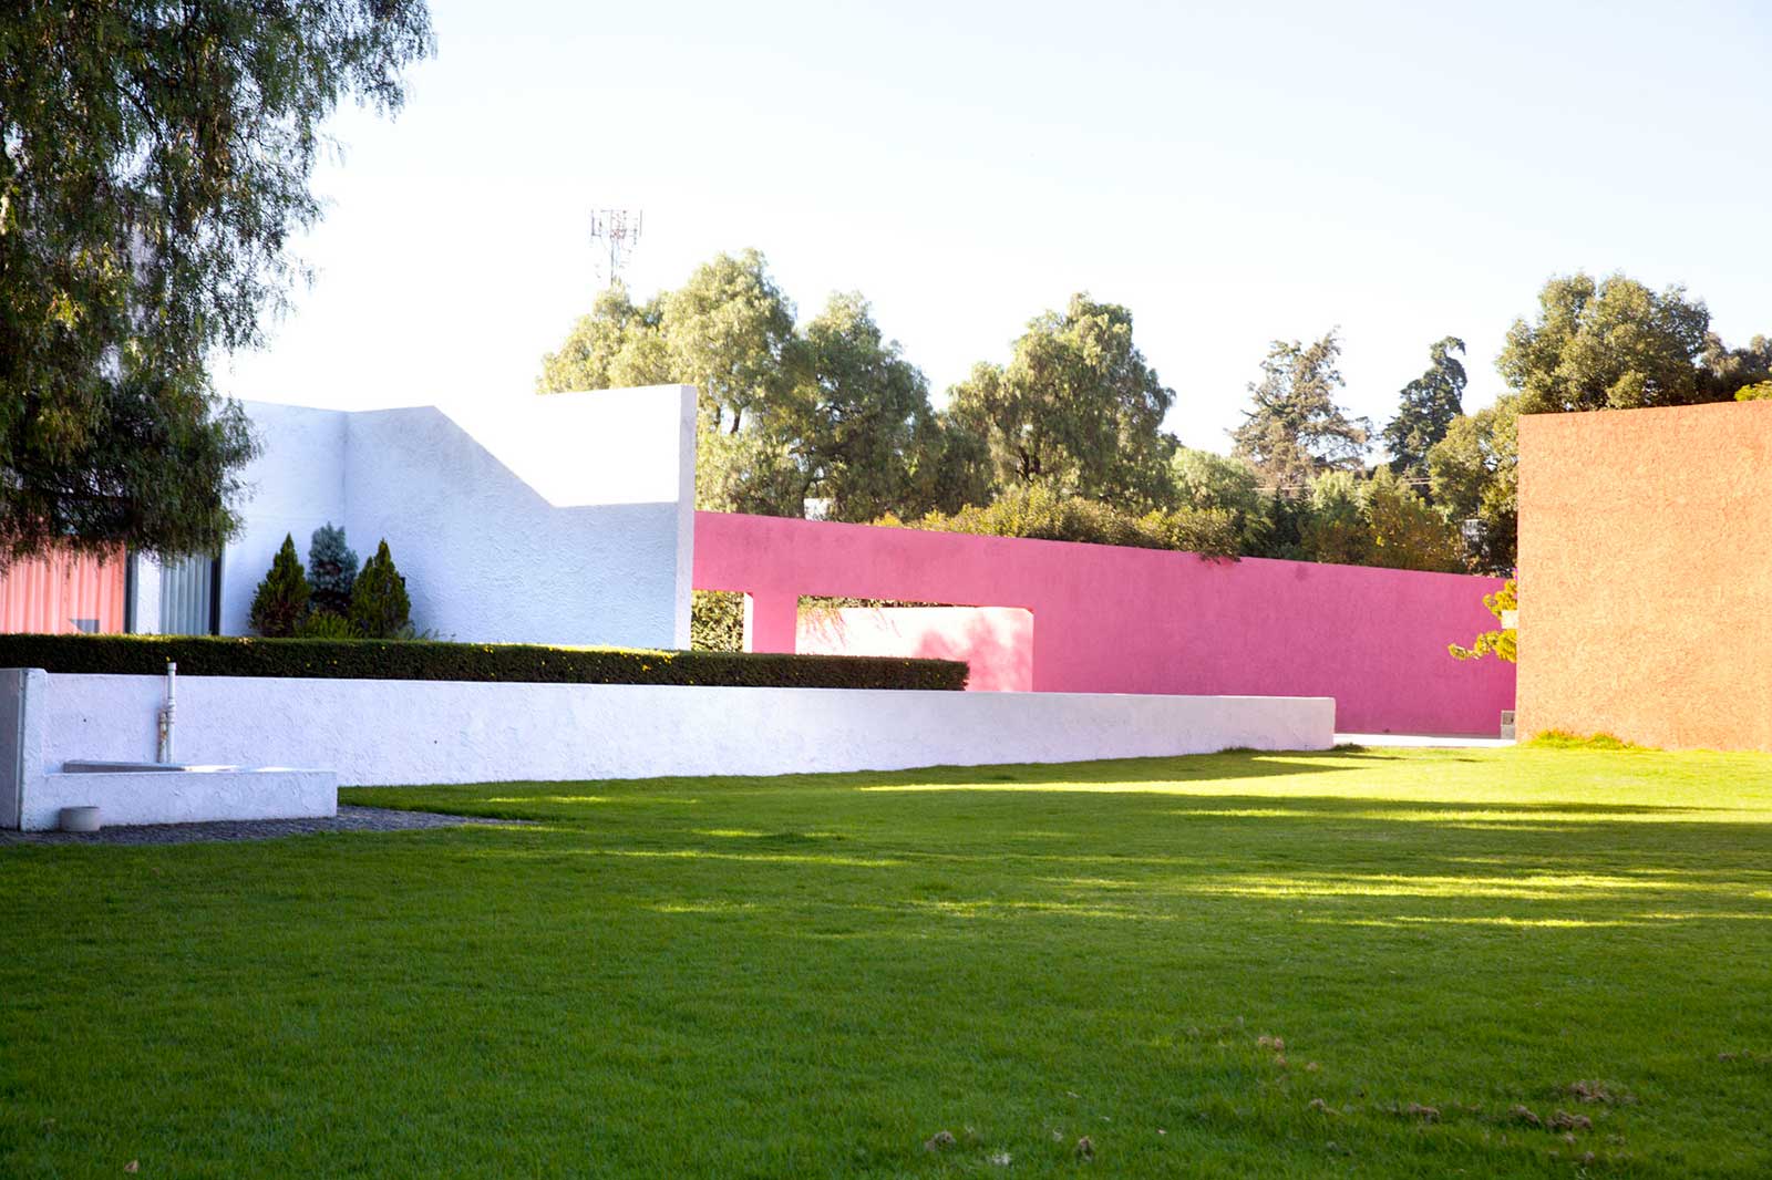
M 1772 758 L 349 799 L 0 847 L 0 1175 L 1772 1175 Z

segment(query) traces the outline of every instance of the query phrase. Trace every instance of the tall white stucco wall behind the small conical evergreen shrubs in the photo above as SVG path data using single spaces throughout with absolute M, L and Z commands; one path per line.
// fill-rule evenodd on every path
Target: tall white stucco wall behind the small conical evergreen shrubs
M 223 558 L 222 629 L 292 535 L 381 539 L 413 622 L 487 643 L 688 647 L 695 390 L 652 386 L 335 411 L 248 402 L 264 454 Z

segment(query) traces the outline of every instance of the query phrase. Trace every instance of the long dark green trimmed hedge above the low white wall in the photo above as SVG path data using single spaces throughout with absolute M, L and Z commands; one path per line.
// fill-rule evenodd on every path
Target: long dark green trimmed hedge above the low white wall
M 953 659 L 649 652 L 618 647 L 259 640 L 156 634 L 0 634 L 0 668 L 193 677 L 340 680 L 514 680 L 525 684 L 703 684 L 728 687 L 966 687 Z

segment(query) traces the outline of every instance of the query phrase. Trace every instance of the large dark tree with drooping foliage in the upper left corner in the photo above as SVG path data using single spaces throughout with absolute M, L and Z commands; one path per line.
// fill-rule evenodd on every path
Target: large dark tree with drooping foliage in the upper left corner
M 262 340 L 319 220 L 342 97 L 385 112 L 422 0 L 14 5 L 0 18 L 0 546 L 214 553 L 245 415 L 214 349 Z

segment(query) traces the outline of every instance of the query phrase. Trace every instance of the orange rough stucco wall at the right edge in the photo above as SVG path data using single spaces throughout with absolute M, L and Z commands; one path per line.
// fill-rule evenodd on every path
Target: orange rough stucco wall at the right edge
M 1520 418 L 1519 732 L 1772 749 L 1772 402 Z

